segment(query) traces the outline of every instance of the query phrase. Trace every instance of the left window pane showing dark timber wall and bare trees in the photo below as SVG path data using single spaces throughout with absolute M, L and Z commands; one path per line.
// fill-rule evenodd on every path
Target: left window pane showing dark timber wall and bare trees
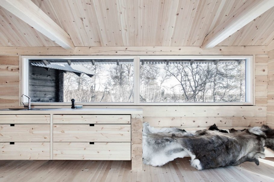
M 33 102 L 133 102 L 133 60 L 30 60 Z

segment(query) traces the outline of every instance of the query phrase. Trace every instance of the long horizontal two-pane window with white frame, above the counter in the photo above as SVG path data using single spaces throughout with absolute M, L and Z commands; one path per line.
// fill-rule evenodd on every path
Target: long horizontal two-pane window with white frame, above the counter
M 69 105 L 72 98 L 83 105 L 251 105 L 252 62 L 250 56 L 24 56 L 20 94 L 34 105 Z

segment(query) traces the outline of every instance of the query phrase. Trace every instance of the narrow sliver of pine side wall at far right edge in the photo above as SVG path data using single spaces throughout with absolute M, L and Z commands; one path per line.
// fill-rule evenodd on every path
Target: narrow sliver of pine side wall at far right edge
M 267 124 L 274 128 L 274 47 L 268 51 Z

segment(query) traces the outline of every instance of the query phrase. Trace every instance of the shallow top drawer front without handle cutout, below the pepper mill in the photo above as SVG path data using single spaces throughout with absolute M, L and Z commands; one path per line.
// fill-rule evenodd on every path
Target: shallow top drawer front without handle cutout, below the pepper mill
M 53 124 L 130 124 L 130 115 L 53 115 Z

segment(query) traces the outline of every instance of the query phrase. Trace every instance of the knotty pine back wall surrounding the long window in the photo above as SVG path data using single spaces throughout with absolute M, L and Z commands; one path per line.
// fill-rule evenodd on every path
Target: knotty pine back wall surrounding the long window
M 58 51 L 59 50 L 59 51 Z M 255 106 L 138 106 L 143 121 L 156 127 L 204 129 L 216 123 L 225 128 L 266 124 L 268 56 L 266 46 L 224 46 L 202 50 L 199 47 L 78 47 L 61 48 L 0 47 L 0 106 L 19 106 L 18 55 L 254 55 Z M 6 56 L 10 55 L 10 56 Z M 273 54 L 272 54 L 273 55 Z M 273 61 L 274 62 L 274 61 Z M 274 69 L 274 66 L 273 66 Z M 273 76 L 274 78 L 274 76 Z M 98 106 L 99 107 L 99 106 Z M 100 106 L 106 107 L 106 106 Z M 110 106 L 107 106 L 110 107 Z M 116 106 L 122 107 L 122 106 Z M 129 107 L 129 106 L 126 106 Z M 130 106 L 134 107 L 134 106 Z

